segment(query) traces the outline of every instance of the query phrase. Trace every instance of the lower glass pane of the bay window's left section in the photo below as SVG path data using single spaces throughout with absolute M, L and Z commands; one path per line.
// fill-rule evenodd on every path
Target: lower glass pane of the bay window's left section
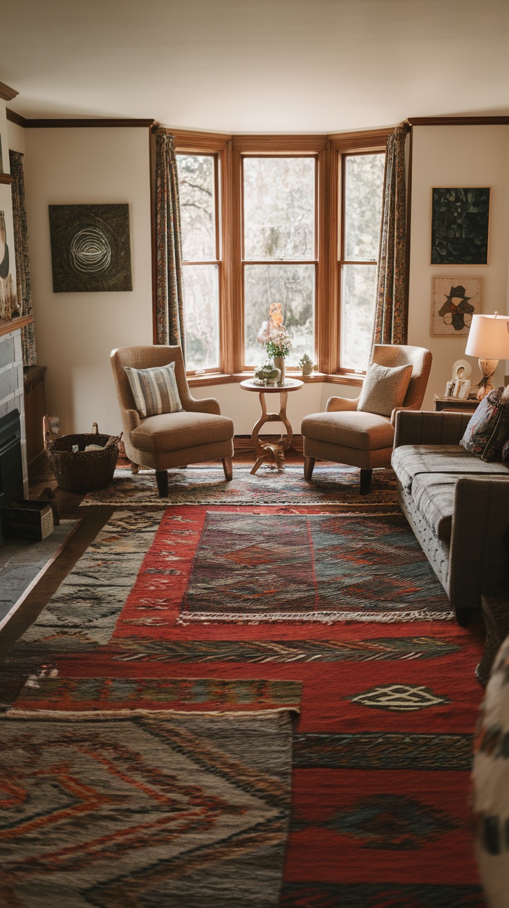
M 186 369 L 217 369 L 220 363 L 219 268 L 184 265 Z

